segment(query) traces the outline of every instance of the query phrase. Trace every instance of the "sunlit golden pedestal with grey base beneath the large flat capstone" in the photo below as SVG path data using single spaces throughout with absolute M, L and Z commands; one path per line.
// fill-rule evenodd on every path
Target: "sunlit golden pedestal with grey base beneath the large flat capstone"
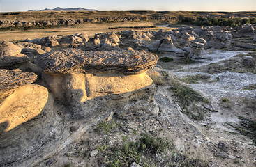
M 153 81 L 145 73 L 43 73 L 43 78 L 54 97 L 69 106 L 74 116 L 89 119 L 114 112 L 128 119 L 158 114 Z

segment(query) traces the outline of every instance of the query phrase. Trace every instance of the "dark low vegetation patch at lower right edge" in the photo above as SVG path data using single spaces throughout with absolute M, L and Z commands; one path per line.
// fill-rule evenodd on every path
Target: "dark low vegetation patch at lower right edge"
M 240 134 L 248 136 L 253 140 L 253 145 L 256 146 L 256 121 L 241 116 L 237 117 L 240 120 L 240 126 L 231 125 L 229 123 L 228 125 L 234 127 L 234 129 L 236 129 L 236 131 L 238 131 Z

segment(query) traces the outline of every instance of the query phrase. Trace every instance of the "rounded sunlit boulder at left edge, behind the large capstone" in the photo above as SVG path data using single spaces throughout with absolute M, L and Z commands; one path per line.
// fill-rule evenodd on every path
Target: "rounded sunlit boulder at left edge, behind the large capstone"
M 29 61 L 29 58 L 21 54 L 22 48 L 12 42 L 0 43 L 0 67 L 12 67 Z

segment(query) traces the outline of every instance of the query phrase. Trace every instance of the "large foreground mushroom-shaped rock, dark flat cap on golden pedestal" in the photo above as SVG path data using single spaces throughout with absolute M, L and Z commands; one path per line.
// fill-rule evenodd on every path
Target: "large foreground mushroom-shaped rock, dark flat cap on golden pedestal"
M 157 60 L 146 51 L 65 49 L 38 56 L 36 63 L 54 96 L 75 115 L 91 118 L 92 104 L 93 111 L 101 111 L 104 104 L 103 113 L 119 116 L 156 113 L 153 82 L 144 72 Z

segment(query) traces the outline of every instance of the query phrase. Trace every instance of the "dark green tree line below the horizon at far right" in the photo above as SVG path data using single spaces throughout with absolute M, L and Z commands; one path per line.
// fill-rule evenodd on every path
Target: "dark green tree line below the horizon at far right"
M 181 17 L 181 23 L 192 24 L 197 26 L 241 26 L 243 24 L 256 24 L 256 17 L 252 18 L 205 18 Z

